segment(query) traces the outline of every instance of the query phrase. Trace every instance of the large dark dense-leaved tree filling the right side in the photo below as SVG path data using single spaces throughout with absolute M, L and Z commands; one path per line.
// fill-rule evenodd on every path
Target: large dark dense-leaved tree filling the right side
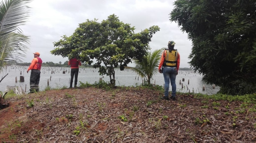
M 192 41 L 192 68 L 220 93 L 256 91 L 256 1 L 177 0 L 170 13 Z

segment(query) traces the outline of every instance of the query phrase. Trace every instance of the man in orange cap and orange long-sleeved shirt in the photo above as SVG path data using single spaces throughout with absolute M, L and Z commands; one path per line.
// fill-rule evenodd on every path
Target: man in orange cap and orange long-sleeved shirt
M 27 73 L 31 70 L 30 74 L 30 89 L 29 93 L 39 92 L 39 81 L 40 81 L 40 73 L 41 73 L 41 66 L 42 66 L 42 59 L 39 58 L 40 53 L 36 52 L 34 54 L 34 59 L 31 61 L 27 69 Z

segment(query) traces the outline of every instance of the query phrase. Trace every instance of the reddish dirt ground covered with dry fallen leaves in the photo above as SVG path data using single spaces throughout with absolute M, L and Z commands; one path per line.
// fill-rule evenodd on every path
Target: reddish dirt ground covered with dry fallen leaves
M 8 99 L 2 143 L 254 143 L 256 105 L 143 88 L 49 90 Z M 33 107 L 29 107 L 33 104 Z

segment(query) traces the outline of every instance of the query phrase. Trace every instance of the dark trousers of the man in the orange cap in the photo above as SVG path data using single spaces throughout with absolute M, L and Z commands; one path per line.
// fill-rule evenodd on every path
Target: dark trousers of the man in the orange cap
M 30 93 L 39 92 L 40 70 L 32 69 L 30 74 Z

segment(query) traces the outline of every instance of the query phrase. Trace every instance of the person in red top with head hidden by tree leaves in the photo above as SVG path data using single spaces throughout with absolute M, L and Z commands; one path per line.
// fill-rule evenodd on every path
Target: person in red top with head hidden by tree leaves
M 74 87 L 76 88 L 78 72 L 79 72 L 79 65 L 82 65 L 81 61 L 77 58 L 71 58 L 68 61 L 68 65 L 70 65 L 70 68 L 71 68 L 71 71 L 70 71 L 71 78 L 70 78 L 69 88 L 72 88 L 74 75 L 75 75 Z

